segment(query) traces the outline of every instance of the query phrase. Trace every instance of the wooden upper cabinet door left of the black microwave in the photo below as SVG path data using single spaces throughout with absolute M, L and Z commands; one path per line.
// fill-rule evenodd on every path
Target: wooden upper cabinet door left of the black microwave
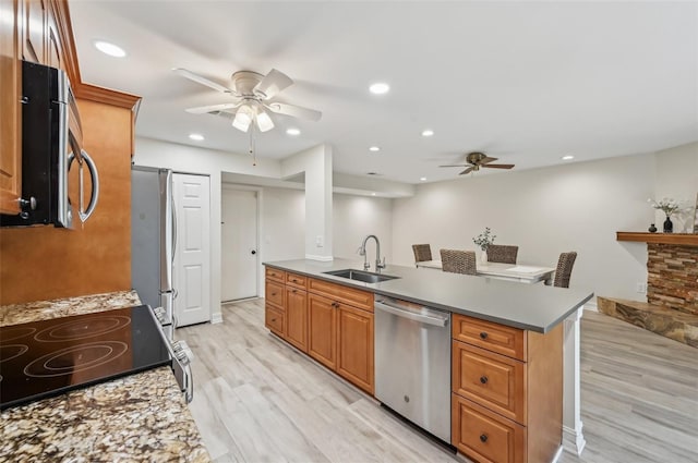
M 22 194 L 20 3 L 0 3 L 0 212 L 19 214 Z

